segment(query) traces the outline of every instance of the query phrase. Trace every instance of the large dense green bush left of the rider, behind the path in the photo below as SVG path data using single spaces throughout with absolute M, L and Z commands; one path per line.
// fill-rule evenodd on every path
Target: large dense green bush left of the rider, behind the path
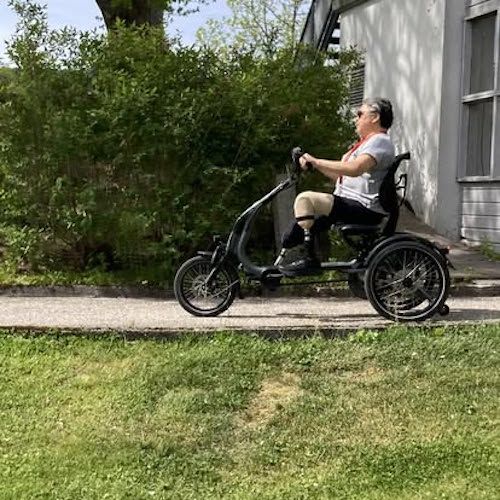
M 350 54 L 222 57 L 145 27 L 51 31 L 43 8 L 15 5 L 15 68 L 0 78 L 0 232 L 15 266 L 154 265 L 170 280 L 292 146 L 335 157 L 352 137 Z

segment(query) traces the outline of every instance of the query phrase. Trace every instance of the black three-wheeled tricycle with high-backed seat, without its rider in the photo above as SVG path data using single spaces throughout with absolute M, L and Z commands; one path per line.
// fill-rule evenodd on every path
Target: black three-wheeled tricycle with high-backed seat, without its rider
M 301 148 L 293 149 L 288 177 L 236 219 L 227 240 L 216 240 L 213 251 L 198 252 L 181 265 L 174 291 L 186 311 L 195 316 L 222 313 L 236 296 L 242 296 L 240 275 L 269 289 L 282 285 L 285 275 L 279 262 L 283 251 L 273 264 L 261 266 L 251 261 L 246 249 L 260 210 L 298 183 L 303 154 Z M 368 299 L 379 314 L 398 322 L 449 313 L 445 303 L 450 287 L 448 249 L 415 234 L 395 231 L 400 206 L 397 190 L 406 189 L 406 175 L 400 175 L 397 183 L 395 175 L 400 163 L 409 159 L 410 153 L 397 156 L 382 183 L 380 201 L 389 215 L 381 224 L 334 227 L 356 256 L 348 262 L 322 262 L 319 269 L 311 270 L 311 274 L 340 271 L 353 295 Z

